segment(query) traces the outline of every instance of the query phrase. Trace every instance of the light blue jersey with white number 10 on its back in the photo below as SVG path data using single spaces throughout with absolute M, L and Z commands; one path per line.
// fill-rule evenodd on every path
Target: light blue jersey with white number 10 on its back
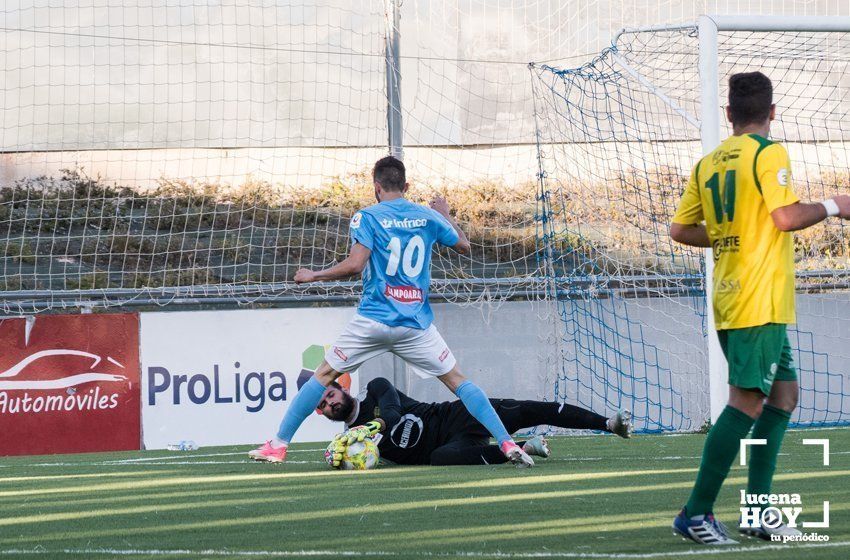
M 427 329 L 431 249 L 458 242 L 452 225 L 434 210 L 397 198 L 364 208 L 351 218 L 352 244 L 372 251 L 363 271 L 358 313 L 391 327 Z

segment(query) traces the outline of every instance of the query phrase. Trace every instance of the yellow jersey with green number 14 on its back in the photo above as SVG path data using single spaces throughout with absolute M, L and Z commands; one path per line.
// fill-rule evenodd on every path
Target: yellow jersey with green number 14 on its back
M 705 220 L 717 330 L 795 322 L 794 238 L 770 213 L 798 201 L 785 148 L 756 134 L 730 136 L 697 163 L 673 222 Z

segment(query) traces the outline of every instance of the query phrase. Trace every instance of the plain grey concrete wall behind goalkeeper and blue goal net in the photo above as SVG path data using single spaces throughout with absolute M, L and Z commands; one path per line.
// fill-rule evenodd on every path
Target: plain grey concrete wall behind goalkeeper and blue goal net
M 850 420 L 850 293 L 799 295 L 797 307 L 799 323 L 789 329 L 802 387 L 794 421 Z M 602 414 L 630 408 L 637 427 L 649 430 L 696 430 L 709 416 L 699 300 L 435 304 L 434 311 L 462 371 L 491 397 L 565 400 Z M 422 401 L 454 398 L 390 355 L 361 375 L 364 385 L 393 379 Z

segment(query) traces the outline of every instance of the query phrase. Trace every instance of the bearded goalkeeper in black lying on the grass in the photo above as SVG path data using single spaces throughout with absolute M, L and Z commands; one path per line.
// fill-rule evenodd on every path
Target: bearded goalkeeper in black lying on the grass
M 605 418 L 569 404 L 512 399 L 490 402 L 509 433 L 539 425 L 599 430 L 623 438 L 632 433 L 628 411 Z M 490 444 L 490 433 L 460 401 L 422 403 L 383 378 L 370 381 L 360 400 L 332 383 L 318 408 L 325 417 L 345 422 L 348 428 L 335 440 L 334 466 L 339 465 L 346 445 L 378 434 L 381 458 L 401 465 L 493 465 L 508 461 L 499 446 Z M 529 455 L 549 456 L 549 445 L 542 436 L 518 443 Z

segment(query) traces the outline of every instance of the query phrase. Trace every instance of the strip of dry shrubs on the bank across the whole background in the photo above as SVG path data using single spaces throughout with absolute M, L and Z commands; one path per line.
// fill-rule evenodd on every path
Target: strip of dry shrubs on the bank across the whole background
M 470 258 L 440 251 L 436 278 L 539 274 L 538 232 L 559 275 L 667 274 L 699 266 L 697 253 L 667 237 L 686 180 L 661 168 L 550 184 L 546 220 L 534 183 L 415 184 L 409 197 L 445 196 L 473 243 Z M 809 189 L 848 192 L 850 175 L 821 176 Z M 161 179 L 140 191 L 81 170 L 34 177 L 0 188 L 0 290 L 285 282 L 297 268 L 342 258 L 348 220 L 373 202 L 366 171 L 320 188 Z M 850 237 L 837 223 L 799 233 L 796 245 L 801 268 L 848 268 Z

